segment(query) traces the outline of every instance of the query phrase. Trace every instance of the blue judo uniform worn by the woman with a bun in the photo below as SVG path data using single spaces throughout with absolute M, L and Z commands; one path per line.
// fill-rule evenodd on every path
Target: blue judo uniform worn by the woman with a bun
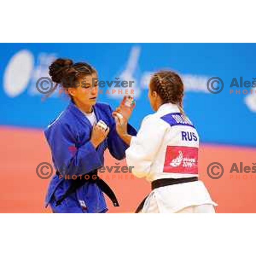
M 108 104 L 96 103 L 93 106 L 97 122 L 101 119 L 110 128 L 108 137 L 95 149 L 90 142 L 92 125 L 87 117 L 73 102 L 45 130 L 45 136 L 52 151 L 52 161 L 58 171 L 67 167 L 65 174 L 70 175 L 52 178 L 45 204 L 50 204 L 56 213 L 97 213 L 108 210 L 101 189 L 96 183 L 85 182 L 75 193 L 65 198 L 56 206 L 61 196 L 67 192 L 72 183 L 72 175 L 85 175 L 104 166 L 104 151 L 109 149 L 117 160 L 125 158 L 128 145 L 116 133 L 115 120 L 111 116 L 113 110 Z M 128 134 L 136 135 L 136 130 L 128 124 Z M 64 175 L 63 175 L 64 176 Z M 54 195 L 54 196 L 53 196 Z M 85 207 L 81 206 L 84 202 Z

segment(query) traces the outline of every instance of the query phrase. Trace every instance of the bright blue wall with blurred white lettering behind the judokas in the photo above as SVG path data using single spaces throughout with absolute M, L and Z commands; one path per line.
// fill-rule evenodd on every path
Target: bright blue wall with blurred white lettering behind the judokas
M 67 57 L 92 64 L 100 80 L 135 80 L 137 105 L 131 122 L 137 128 L 152 113 L 148 73 L 169 68 L 183 77 L 184 108 L 202 142 L 256 146 L 256 93 L 242 93 L 255 88 L 240 88 L 240 95 L 229 93 L 233 77 L 256 78 L 256 44 L 0 44 L 0 55 L 1 125 L 44 128 L 64 109 L 68 99 L 56 92 L 42 101 L 35 84 L 47 76 L 54 58 Z M 219 94 L 207 90 L 207 80 L 213 76 L 224 81 Z M 106 90 L 99 100 L 115 107 L 120 99 Z

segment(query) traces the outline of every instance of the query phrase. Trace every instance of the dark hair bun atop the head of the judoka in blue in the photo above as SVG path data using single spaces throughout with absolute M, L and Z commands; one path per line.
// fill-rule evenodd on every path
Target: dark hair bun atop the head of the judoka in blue
M 73 65 L 73 61 L 65 58 L 58 58 L 49 66 L 49 75 L 55 83 L 61 83 L 63 73 Z

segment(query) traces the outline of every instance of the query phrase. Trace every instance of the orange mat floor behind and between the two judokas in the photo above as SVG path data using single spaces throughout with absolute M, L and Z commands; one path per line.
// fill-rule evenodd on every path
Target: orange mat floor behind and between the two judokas
M 40 129 L 0 127 L 0 212 L 51 212 L 44 208 L 48 180 L 36 174 L 39 163 L 51 161 L 49 147 Z M 125 160 L 113 159 L 108 152 L 105 165 L 111 166 Z M 211 179 L 206 172 L 212 162 L 224 166 L 224 175 Z M 199 175 L 212 199 L 218 203 L 217 212 L 256 212 L 256 173 L 230 173 L 232 163 L 244 166 L 256 163 L 256 148 L 220 145 L 201 145 Z M 150 184 L 131 174 L 105 173 L 101 175 L 115 191 L 120 207 L 113 207 L 107 198 L 108 212 L 134 212 L 150 191 Z

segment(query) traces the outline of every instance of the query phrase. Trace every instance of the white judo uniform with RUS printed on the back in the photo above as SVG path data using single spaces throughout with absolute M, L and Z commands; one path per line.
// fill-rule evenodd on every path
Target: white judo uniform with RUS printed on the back
M 198 176 L 199 137 L 177 105 L 166 103 L 143 119 L 125 151 L 132 173 L 148 181 Z M 141 212 L 215 212 L 202 181 L 154 189 Z M 200 207 L 199 207 L 200 206 Z M 205 207 L 204 207 L 205 206 Z

